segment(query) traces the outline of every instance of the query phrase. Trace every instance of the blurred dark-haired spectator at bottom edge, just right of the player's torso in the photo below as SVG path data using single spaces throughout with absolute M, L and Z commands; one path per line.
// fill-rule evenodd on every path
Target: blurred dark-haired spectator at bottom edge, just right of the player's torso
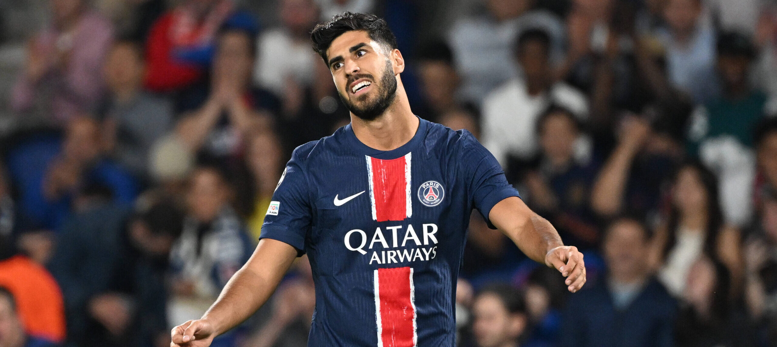
M 477 347 L 517 346 L 527 325 L 523 293 L 506 284 L 486 286 L 472 303 L 472 333 Z

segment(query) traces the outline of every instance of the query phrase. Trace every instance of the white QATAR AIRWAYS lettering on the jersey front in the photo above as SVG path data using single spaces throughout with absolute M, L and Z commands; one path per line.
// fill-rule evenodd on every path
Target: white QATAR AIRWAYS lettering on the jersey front
M 405 232 L 404 237 L 402 237 L 402 229 Z M 387 226 L 385 231 L 378 227 L 371 238 L 364 230 L 354 229 L 345 234 L 343 244 L 349 251 L 359 252 L 362 255 L 371 252 L 368 261 L 370 265 L 373 263 L 400 264 L 409 261 L 430 261 L 437 257 L 436 235 L 437 224 L 433 223 L 421 225 L 418 233 L 410 224 Z M 409 247 L 405 248 L 407 246 Z M 366 258 L 364 260 L 367 261 Z

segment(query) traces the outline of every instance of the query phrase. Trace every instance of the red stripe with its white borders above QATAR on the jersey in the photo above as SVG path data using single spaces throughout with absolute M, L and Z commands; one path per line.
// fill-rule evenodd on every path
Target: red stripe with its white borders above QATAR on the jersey
M 366 158 L 372 219 L 378 222 L 399 221 L 413 216 L 411 153 L 396 159 Z

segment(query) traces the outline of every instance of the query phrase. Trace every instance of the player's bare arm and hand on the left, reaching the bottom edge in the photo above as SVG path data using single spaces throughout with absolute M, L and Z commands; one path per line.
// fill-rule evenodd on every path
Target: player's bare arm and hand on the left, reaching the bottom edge
M 204 347 L 259 310 L 283 279 L 297 250 L 283 242 L 262 239 L 246 265 L 229 279 L 218 300 L 201 319 L 172 328 L 171 347 Z

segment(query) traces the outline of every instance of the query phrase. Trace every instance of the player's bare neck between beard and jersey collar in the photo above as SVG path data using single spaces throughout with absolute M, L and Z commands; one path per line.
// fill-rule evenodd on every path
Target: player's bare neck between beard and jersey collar
M 350 126 L 354 129 L 354 135 L 370 148 L 382 151 L 398 149 L 416 135 L 418 117 L 410 110 L 402 81 L 397 79 L 397 84 L 394 102 L 375 120 L 365 121 L 350 115 Z

